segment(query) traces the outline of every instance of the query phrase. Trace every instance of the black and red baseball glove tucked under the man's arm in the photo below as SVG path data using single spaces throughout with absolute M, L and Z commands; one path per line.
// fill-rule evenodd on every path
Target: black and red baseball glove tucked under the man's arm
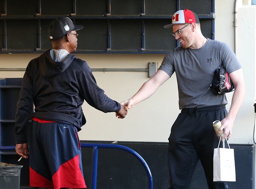
M 214 78 L 209 88 L 212 88 L 214 93 L 218 95 L 223 95 L 235 90 L 230 76 L 224 66 L 220 66 L 214 71 Z

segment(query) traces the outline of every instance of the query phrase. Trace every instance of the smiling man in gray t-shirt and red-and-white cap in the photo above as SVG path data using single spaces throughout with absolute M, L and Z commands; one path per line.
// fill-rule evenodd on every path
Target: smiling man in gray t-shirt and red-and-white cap
M 172 24 L 164 28 L 172 28 L 172 35 L 181 46 L 167 54 L 157 73 L 131 99 L 121 104 L 130 109 L 148 99 L 175 72 L 181 113 L 172 125 L 169 137 L 170 189 L 189 188 L 199 159 L 209 189 L 227 189 L 226 183 L 213 182 L 213 149 L 218 147 L 218 137 L 212 122 L 221 120 L 218 132 L 224 130 L 224 138 L 231 137 L 233 122 L 245 93 L 241 65 L 228 45 L 204 37 L 198 16 L 193 11 L 175 12 Z M 216 95 L 209 89 L 214 71 L 221 65 L 236 88 L 229 113 L 225 109 L 226 96 Z

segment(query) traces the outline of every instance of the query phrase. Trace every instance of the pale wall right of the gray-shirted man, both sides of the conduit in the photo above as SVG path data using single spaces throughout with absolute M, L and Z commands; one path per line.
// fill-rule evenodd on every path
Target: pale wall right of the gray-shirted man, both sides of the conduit
M 226 42 L 234 49 L 234 0 L 216 0 L 216 40 Z M 224 3 L 224 4 L 223 4 Z M 250 2 L 248 2 L 250 4 Z M 256 51 L 256 6 L 244 6 L 239 0 L 237 8 L 237 54 L 243 67 L 246 83 L 246 96 L 236 117 L 233 137 L 230 143 L 253 144 L 255 102 L 255 51 Z M 219 16 L 221 15 L 221 16 Z M 228 94 L 231 102 L 232 94 Z M 227 108 L 230 107 L 230 103 Z

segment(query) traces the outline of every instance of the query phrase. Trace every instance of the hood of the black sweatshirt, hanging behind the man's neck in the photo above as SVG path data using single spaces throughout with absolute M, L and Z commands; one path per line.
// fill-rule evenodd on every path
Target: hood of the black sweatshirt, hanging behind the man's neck
M 76 58 L 75 55 L 68 54 L 62 62 L 55 62 L 50 56 L 50 50 L 48 50 L 39 57 L 39 68 L 44 78 L 56 76 L 64 72 L 74 58 Z

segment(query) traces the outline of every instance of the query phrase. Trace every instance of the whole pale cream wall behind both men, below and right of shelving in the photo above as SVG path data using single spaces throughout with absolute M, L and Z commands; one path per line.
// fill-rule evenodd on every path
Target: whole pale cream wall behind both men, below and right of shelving
M 253 144 L 255 102 L 255 9 L 242 6 L 238 9 L 238 58 L 241 62 L 247 93 L 237 115 L 230 143 Z M 215 39 L 234 48 L 234 0 L 215 1 Z M 170 37 L 172 37 L 170 35 Z M 39 54 L 0 54 L 0 68 L 26 68 L 30 59 Z M 148 62 L 162 62 L 163 54 L 77 54 L 91 68 L 148 68 Z M 147 81 L 144 72 L 94 72 L 97 83 L 105 93 L 118 102 L 130 98 Z M 23 72 L 0 72 L 0 77 L 22 77 Z M 232 94 L 228 94 L 229 104 Z M 229 105 L 227 106 L 229 108 Z M 115 118 L 114 113 L 102 113 L 86 102 L 83 105 L 87 124 L 79 132 L 81 140 L 107 141 L 156 141 L 167 142 L 178 109 L 175 75 L 157 92 L 129 111 L 125 119 Z

